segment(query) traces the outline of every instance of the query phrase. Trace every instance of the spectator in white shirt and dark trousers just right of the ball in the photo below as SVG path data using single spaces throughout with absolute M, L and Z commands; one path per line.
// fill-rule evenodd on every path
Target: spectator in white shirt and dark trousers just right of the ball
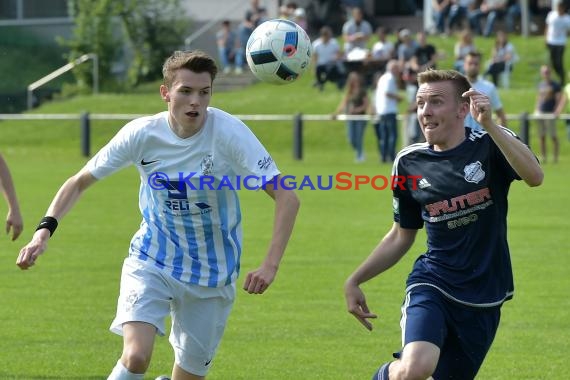
M 332 29 L 323 26 L 320 37 L 313 41 L 313 63 L 315 66 L 314 87 L 323 90 L 327 81 L 336 84 L 340 90 L 344 87 L 345 72 L 342 64 L 342 52 Z

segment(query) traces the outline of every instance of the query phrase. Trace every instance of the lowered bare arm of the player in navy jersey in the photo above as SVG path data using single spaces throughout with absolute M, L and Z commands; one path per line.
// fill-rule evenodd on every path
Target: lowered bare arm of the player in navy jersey
M 394 222 L 392 229 L 346 280 L 344 296 L 348 312 L 368 330 L 372 330 L 369 319 L 376 318 L 376 315 L 370 312 L 360 284 L 396 264 L 414 243 L 417 232 L 418 230 L 402 228 L 399 223 Z

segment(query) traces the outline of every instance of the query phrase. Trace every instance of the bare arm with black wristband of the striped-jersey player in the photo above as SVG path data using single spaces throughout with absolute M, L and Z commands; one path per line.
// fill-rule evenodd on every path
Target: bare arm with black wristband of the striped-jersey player
M 47 242 L 57 227 L 57 221 L 67 214 L 83 191 L 96 180 L 89 171 L 83 169 L 65 181 L 51 202 L 46 213 L 47 216 L 42 219 L 42 223 L 34 233 L 32 240 L 20 250 L 16 260 L 16 265 L 20 269 L 28 269 L 35 264 L 38 256 L 46 250 Z

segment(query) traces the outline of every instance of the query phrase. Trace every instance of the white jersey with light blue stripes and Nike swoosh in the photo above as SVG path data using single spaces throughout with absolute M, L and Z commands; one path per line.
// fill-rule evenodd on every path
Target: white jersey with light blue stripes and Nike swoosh
M 207 112 L 204 127 L 186 139 L 170 129 L 168 112 L 133 120 L 86 168 L 98 179 L 130 164 L 139 171 L 143 219 L 129 256 L 180 281 L 221 287 L 236 280 L 240 267 L 236 190 L 261 186 L 279 170 L 239 119 L 216 108 Z

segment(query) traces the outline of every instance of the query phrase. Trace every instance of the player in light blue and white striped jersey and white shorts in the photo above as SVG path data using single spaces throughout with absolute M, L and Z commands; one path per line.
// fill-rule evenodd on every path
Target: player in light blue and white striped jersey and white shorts
M 160 86 L 168 111 L 125 125 L 68 179 L 18 256 L 20 268 L 34 265 L 58 220 L 89 186 L 135 165 L 142 223 L 123 264 L 111 325 L 123 336 L 123 354 L 110 380 L 143 379 L 155 335 L 165 334 L 169 314 L 172 379 L 205 378 L 235 298 L 242 252 L 240 178 L 275 200 L 269 249 L 261 266 L 247 274 L 246 291 L 262 294 L 271 285 L 293 230 L 299 200 L 274 186 L 280 172 L 269 153 L 239 119 L 209 107 L 216 73 L 205 53 L 170 56 Z

